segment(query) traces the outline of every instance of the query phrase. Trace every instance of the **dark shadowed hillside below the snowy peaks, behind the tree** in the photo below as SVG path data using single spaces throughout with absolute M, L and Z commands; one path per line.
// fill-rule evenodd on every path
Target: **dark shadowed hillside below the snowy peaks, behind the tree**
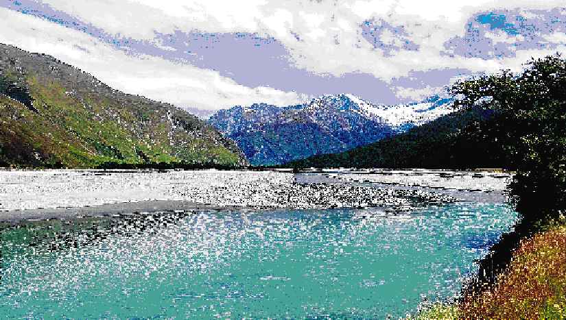
M 492 110 L 456 111 L 408 132 L 342 153 L 314 156 L 284 164 L 296 168 L 429 168 L 467 169 L 512 166 L 497 140 L 479 124 L 497 125 Z M 483 126 L 482 126 L 482 130 Z

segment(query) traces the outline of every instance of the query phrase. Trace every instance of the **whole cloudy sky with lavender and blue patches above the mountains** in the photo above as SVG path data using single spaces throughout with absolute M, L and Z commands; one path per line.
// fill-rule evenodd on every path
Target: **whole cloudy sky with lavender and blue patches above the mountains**
M 182 108 L 396 104 L 565 52 L 566 1 L 0 0 L 0 42 Z

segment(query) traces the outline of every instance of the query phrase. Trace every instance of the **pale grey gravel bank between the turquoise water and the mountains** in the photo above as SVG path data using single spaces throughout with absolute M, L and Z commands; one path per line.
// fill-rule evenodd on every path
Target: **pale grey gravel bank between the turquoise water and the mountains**
M 429 190 L 298 182 L 276 171 L 0 171 L 0 221 L 165 210 L 323 209 L 456 201 Z

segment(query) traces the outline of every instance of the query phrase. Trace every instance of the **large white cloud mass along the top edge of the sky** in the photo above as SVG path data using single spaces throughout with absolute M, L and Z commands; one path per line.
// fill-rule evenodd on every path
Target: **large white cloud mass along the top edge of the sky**
M 485 71 L 477 60 L 440 56 L 443 43 L 464 33 L 472 14 L 496 8 L 544 9 L 563 5 L 563 0 L 43 0 L 54 8 L 78 16 L 110 34 L 153 40 L 154 32 L 257 32 L 274 36 L 289 49 L 292 62 L 318 74 L 340 76 L 350 72 L 370 73 L 389 81 L 410 71 L 464 66 Z M 385 19 L 403 25 L 419 52 L 384 57 L 360 34 L 366 19 Z M 305 41 L 296 41 L 290 32 Z M 388 35 L 385 34 L 384 37 Z M 337 42 L 338 40 L 338 42 Z M 385 40 L 398 42 L 394 35 Z M 516 39 L 494 35 L 494 40 Z M 498 60 L 497 69 L 511 60 Z

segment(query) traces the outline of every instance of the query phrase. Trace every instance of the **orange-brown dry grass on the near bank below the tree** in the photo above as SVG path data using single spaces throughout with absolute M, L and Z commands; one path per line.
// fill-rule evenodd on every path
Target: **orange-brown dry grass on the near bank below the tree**
M 566 227 L 521 243 L 493 288 L 464 297 L 462 319 L 566 319 Z

